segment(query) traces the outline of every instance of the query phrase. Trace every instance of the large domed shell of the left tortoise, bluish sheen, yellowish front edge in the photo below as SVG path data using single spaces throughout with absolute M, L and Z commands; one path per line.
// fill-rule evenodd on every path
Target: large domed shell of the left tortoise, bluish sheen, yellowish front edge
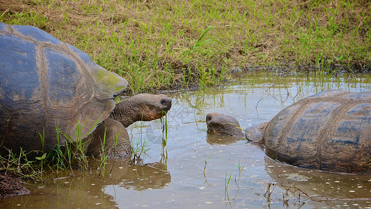
M 86 137 L 127 86 L 88 54 L 33 26 L 0 23 L 0 46 L 3 148 L 50 150 L 65 144 L 61 133 L 72 141 Z

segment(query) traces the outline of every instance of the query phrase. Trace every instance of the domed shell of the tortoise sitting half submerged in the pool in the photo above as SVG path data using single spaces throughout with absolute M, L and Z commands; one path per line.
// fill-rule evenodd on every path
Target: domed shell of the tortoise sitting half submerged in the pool
M 371 92 L 324 91 L 277 114 L 266 154 L 297 167 L 371 173 Z

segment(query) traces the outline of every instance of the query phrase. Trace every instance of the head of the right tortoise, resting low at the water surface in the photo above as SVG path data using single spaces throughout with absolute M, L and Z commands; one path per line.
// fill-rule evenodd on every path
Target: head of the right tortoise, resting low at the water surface
M 230 136 L 242 136 L 241 127 L 236 118 L 220 113 L 210 113 L 206 116 L 207 132 Z

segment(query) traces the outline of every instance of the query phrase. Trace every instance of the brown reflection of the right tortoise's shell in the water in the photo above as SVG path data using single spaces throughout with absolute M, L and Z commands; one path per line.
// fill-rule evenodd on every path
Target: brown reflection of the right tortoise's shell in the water
M 301 193 L 301 198 L 316 201 L 311 202 L 314 205 L 326 203 L 335 207 L 352 202 L 361 208 L 370 207 L 371 180 L 368 177 L 301 169 L 269 157 L 265 157 L 265 169 L 275 185 L 283 190 L 294 187 L 305 192 Z M 295 195 L 298 198 L 298 194 Z

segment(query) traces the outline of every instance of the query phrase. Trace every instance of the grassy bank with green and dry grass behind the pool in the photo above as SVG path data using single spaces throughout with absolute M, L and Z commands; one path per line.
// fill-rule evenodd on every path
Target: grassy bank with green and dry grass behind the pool
M 368 70 L 370 11 L 360 0 L 0 0 L 0 22 L 76 46 L 134 92 L 218 84 L 256 66 Z

